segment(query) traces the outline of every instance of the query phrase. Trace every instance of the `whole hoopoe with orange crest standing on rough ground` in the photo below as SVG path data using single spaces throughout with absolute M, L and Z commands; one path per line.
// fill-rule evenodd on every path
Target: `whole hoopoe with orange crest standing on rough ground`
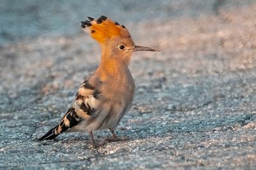
M 159 52 L 156 48 L 134 44 L 124 25 L 101 15 L 81 22 L 83 31 L 99 43 L 99 67 L 78 89 L 74 101 L 59 124 L 39 141 L 54 139 L 62 132 L 87 132 L 93 148 L 99 145 L 93 132 L 109 129 L 113 141 L 118 141 L 115 129 L 132 106 L 135 83 L 129 70 L 133 52 Z

